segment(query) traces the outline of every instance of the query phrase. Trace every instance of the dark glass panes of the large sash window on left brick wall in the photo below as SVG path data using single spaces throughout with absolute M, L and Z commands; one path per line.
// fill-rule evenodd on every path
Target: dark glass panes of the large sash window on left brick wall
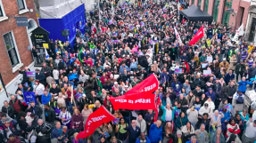
M 8 52 L 9 58 L 11 60 L 12 68 L 14 68 L 18 64 L 20 64 L 20 61 L 19 61 L 19 58 L 17 55 L 12 32 L 9 32 L 4 35 L 4 44 L 5 44 L 6 50 Z

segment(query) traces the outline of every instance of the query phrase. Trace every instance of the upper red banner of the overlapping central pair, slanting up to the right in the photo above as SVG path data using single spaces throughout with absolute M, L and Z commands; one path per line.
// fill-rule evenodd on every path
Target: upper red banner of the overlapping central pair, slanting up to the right
M 155 75 L 148 76 L 141 83 L 136 84 L 131 90 L 125 93 L 125 95 L 139 93 L 139 92 L 153 92 L 158 89 L 158 80 Z

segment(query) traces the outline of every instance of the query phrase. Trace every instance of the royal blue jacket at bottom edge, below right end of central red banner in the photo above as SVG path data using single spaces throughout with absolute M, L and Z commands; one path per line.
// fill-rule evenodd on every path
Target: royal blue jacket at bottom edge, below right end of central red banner
M 159 128 L 157 128 L 157 126 L 153 123 L 150 126 L 149 139 L 152 142 L 159 142 L 160 140 L 162 140 L 162 127 L 160 126 Z

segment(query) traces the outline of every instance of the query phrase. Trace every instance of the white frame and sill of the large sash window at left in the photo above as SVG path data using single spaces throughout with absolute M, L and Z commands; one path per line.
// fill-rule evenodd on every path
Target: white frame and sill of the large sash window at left
M 7 50 L 7 48 L 6 48 L 4 35 L 7 35 L 7 34 L 10 34 L 12 36 L 12 43 L 13 43 L 13 46 L 14 46 L 13 48 L 16 52 L 16 56 L 17 56 L 17 60 L 18 60 L 18 64 L 16 64 L 15 66 L 12 66 L 11 57 L 9 56 L 9 50 Z M 6 50 L 6 53 L 8 54 L 9 62 L 10 62 L 10 65 L 12 67 L 12 73 L 15 73 L 19 68 L 21 68 L 23 66 L 23 63 L 21 63 L 20 52 L 19 52 L 17 44 L 16 44 L 15 36 L 13 34 L 13 31 L 9 31 L 9 32 L 4 33 L 2 37 L 3 37 L 3 40 L 4 40 L 4 48 Z

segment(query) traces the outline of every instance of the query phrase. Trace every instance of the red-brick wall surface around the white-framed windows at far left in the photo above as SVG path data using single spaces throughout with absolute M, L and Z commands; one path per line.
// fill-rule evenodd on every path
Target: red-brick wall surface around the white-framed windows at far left
M 19 14 L 19 9 L 17 5 L 17 1 L 9 1 L 2 0 L 2 4 L 4 6 L 4 12 L 8 20 L 4 20 L 0 22 L 0 71 L 2 73 L 4 83 L 8 84 L 14 79 L 17 75 L 19 75 L 18 70 L 12 72 L 12 64 L 9 59 L 9 55 L 7 53 L 7 49 L 4 44 L 4 34 L 12 31 L 18 53 L 20 55 L 20 67 L 24 68 L 25 66 L 29 66 L 32 63 L 31 52 L 28 50 L 29 46 L 29 38 L 26 27 L 17 27 L 15 16 L 19 17 L 28 17 L 29 19 L 34 19 L 37 21 L 36 12 L 34 9 L 33 0 L 26 0 L 27 8 L 29 12 L 25 12 L 23 14 Z M 32 10 L 30 12 L 30 10 Z M 14 90 L 14 89 L 10 89 Z M 2 96 L 1 96 L 2 98 Z

